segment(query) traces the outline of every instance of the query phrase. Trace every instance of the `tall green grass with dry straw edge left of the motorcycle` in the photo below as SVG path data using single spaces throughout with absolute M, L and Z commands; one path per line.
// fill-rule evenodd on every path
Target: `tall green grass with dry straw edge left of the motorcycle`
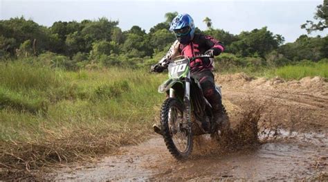
M 152 134 L 165 98 L 157 93 L 165 75 L 145 70 L 70 72 L 24 62 L 0 68 L 0 179 L 138 143 Z

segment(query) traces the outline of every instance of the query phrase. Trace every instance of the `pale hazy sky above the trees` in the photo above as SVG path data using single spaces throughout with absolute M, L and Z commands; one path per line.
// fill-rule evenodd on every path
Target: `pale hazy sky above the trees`
M 235 35 L 242 31 L 268 27 L 280 34 L 286 42 L 294 42 L 300 35 L 307 34 L 300 25 L 313 20 L 316 6 L 323 0 L 0 0 L 0 19 L 24 16 L 37 24 L 51 26 L 55 21 L 96 20 L 107 17 L 119 21 L 122 30 L 140 26 L 146 32 L 165 21 L 166 12 L 188 13 L 195 25 L 206 30 L 205 17 L 212 19 L 213 28 Z M 328 30 L 310 36 L 326 36 Z

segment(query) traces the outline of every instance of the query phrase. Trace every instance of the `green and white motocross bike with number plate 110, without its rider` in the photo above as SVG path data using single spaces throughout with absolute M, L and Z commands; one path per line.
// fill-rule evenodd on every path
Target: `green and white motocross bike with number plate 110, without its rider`
M 190 62 L 198 58 L 210 57 L 200 55 L 197 57 L 178 56 L 168 63 L 169 79 L 158 87 L 159 93 L 167 93 L 167 99 L 161 107 L 161 129 L 154 130 L 163 135 L 165 145 L 172 156 L 178 160 L 184 160 L 192 152 L 193 136 L 211 134 L 211 137 L 220 135 L 219 124 L 214 121 L 212 106 L 206 100 L 198 80 L 190 76 Z M 152 66 L 154 72 L 159 66 Z M 216 90 L 221 95 L 220 87 Z M 226 127 L 230 127 L 226 109 L 222 105 L 222 117 L 225 118 Z M 210 131 L 203 129 L 202 123 L 210 123 Z M 214 129 L 213 129 L 214 128 Z M 159 131 L 158 131 L 159 130 Z

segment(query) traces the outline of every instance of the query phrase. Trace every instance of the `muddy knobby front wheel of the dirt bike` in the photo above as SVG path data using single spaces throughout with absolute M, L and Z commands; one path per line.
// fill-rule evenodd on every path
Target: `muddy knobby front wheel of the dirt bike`
M 183 104 L 176 98 L 167 98 L 161 108 L 162 134 L 165 145 L 178 160 L 192 152 L 192 131 L 183 121 Z

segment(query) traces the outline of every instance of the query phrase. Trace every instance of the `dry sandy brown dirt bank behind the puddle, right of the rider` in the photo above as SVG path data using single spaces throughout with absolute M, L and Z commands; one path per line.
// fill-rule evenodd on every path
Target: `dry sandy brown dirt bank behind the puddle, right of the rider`
M 242 73 L 217 75 L 224 98 L 239 107 L 264 106 L 262 121 L 268 127 L 291 131 L 328 131 L 328 83 L 324 79 L 303 78 L 284 81 L 250 78 Z

